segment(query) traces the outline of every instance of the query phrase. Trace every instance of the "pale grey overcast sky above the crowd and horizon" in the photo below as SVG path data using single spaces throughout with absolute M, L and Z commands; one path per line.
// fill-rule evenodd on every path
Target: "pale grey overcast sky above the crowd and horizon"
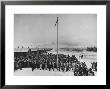
M 59 47 L 97 45 L 96 14 L 15 14 L 14 47 L 56 47 L 59 17 Z

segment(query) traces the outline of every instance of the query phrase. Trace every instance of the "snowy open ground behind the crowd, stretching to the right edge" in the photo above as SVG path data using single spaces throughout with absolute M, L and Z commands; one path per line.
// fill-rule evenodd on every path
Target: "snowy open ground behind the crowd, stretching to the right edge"
M 49 52 L 56 54 L 56 52 Z M 64 55 L 75 55 L 75 57 L 80 61 L 80 62 L 85 62 L 88 68 L 91 68 L 91 63 L 92 62 L 97 62 L 97 52 L 87 52 L 87 51 L 82 51 L 82 52 L 69 52 L 69 51 L 59 51 L 59 54 L 64 54 Z M 80 55 L 83 55 L 83 58 L 79 58 Z

